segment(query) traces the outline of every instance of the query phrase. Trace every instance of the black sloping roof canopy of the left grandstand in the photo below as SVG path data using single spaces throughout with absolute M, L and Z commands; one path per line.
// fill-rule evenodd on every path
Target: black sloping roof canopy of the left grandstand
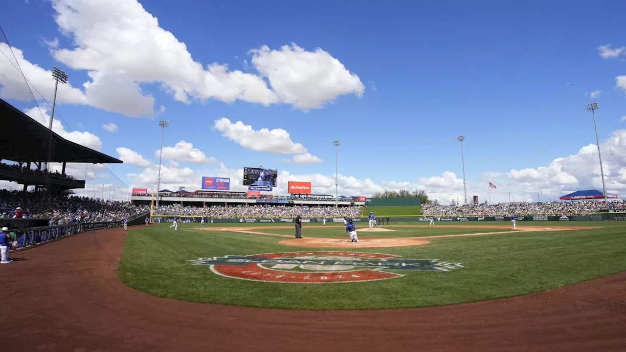
M 0 138 L 0 158 L 3 160 L 56 163 L 122 162 L 66 140 L 2 99 L 0 99 L 0 126 L 3 135 Z M 51 134 L 52 143 L 50 143 Z

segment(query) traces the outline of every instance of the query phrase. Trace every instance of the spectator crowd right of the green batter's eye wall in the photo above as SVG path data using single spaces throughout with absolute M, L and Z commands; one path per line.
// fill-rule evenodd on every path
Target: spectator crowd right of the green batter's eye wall
M 626 209 L 626 200 L 575 200 L 573 202 L 441 205 L 424 204 L 423 215 L 584 214 Z

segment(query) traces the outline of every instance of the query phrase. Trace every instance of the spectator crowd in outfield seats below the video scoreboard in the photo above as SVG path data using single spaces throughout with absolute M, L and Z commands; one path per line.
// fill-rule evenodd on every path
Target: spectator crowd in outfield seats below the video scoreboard
M 161 205 L 155 209 L 153 216 L 177 215 L 177 216 L 208 216 L 208 217 L 295 217 L 302 214 L 303 217 L 356 217 L 361 215 L 360 205 L 352 207 L 309 207 L 306 205 L 213 205 L 203 207 L 183 207 L 180 204 Z

